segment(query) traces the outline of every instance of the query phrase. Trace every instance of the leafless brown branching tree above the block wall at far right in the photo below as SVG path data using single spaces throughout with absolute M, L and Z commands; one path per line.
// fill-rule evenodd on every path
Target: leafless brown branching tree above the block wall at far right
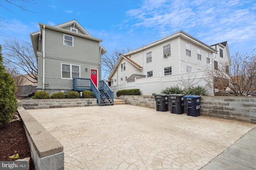
M 219 91 L 230 89 L 233 95 L 248 96 L 256 91 L 256 55 L 235 53 L 231 63 L 219 62 L 217 68 L 206 71 L 208 85 Z M 211 82 L 213 81 L 213 84 Z M 232 95 L 230 94 L 230 95 Z

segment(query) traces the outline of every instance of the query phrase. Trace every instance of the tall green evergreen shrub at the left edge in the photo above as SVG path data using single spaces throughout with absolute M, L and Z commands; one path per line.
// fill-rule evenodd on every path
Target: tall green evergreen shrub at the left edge
M 2 61 L 2 47 L 0 45 L 0 127 L 9 122 L 17 110 L 17 99 L 14 95 L 16 86 L 11 75 L 6 73 Z

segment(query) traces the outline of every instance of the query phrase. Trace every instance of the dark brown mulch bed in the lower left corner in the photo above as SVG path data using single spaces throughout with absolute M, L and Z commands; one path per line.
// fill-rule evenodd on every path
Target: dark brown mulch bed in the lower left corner
M 21 121 L 6 123 L 0 129 L 0 160 L 16 160 L 9 158 L 16 153 L 19 154 L 19 159 L 30 157 L 30 170 L 35 170 L 28 139 Z

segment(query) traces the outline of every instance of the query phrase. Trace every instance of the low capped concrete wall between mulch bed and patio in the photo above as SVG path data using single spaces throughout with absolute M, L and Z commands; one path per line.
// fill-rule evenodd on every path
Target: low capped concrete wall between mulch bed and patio
M 21 104 L 18 112 L 22 119 L 30 152 L 36 170 L 64 170 L 64 151 L 54 138 Z

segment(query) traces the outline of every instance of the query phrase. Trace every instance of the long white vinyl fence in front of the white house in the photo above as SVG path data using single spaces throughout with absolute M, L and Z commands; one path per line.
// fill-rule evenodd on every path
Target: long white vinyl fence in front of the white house
M 151 95 L 152 93 L 159 94 L 161 90 L 166 87 L 178 85 L 181 88 L 184 88 L 184 86 L 188 86 L 188 84 L 193 84 L 194 86 L 206 86 L 204 71 L 200 70 L 168 76 L 163 76 L 160 73 L 159 76 L 135 79 L 135 82 L 126 82 L 125 84 L 111 86 L 110 88 L 114 91 L 114 98 L 116 98 L 116 92 L 118 90 L 140 89 L 142 95 Z M 208 88 L 208 94 L 213 96 L 213 88 Z

